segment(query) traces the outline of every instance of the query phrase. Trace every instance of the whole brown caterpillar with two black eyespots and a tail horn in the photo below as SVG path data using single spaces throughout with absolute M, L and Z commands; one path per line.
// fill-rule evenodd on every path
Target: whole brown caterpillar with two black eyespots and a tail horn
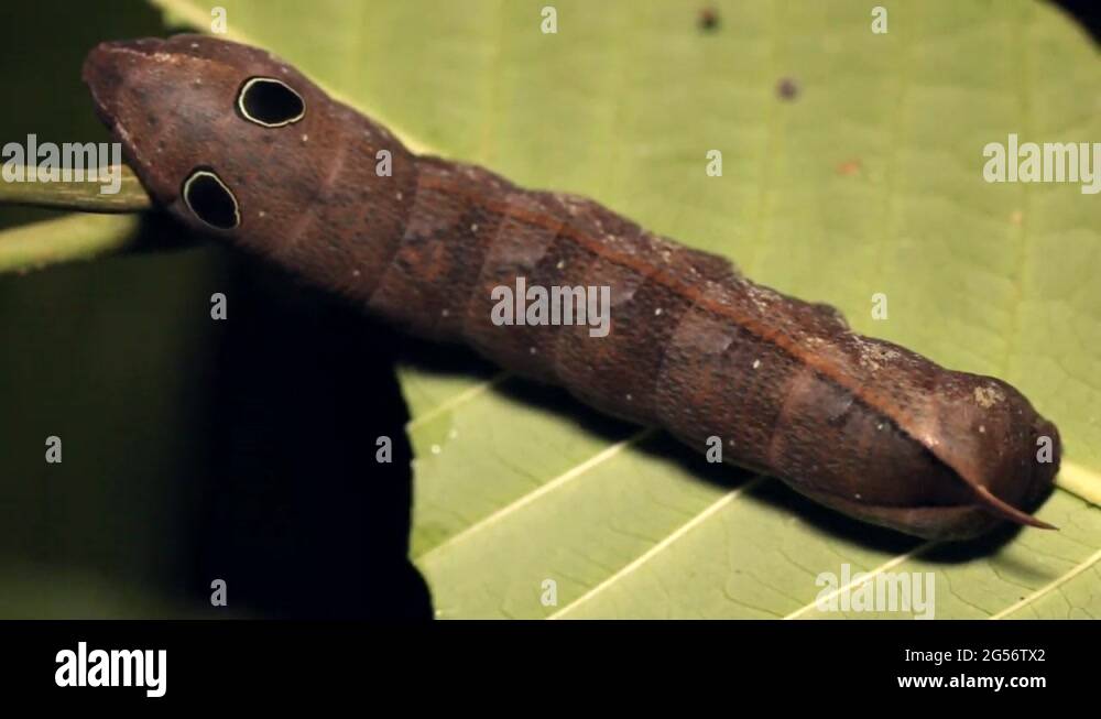
M 416 156 L 254 47 L 103 43 L 84 79 L 159 206 L 413 334 L 700 451 L 720 437 L 726 461 L 866 522 L 938 540 L 1049 526 L 1016 508 L 1050 489 L 1058 432 L 1005 382 L 857 335 L 593 200 Z M 610 334 L 494 325 L 491 292 L 517 276 L 610 286 Z

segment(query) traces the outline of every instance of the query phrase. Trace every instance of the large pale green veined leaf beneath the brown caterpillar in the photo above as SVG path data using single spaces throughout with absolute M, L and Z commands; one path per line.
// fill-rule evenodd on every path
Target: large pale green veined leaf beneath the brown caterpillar
M 197 2 L 157 4 L 209 23 Z M 1058 423 L 1060 482 L 1098 500 L 1101 203 L 982 178 L 983 146 L 1009 133 L 1101 138 L 1097 50 L 1055 8 L 895 3 L 881 35 L 864 2 L 731 1 L 705 33 L 679 0 L 562 0 L 543 34 L 543 0 L 222 4 L 231 37 L 419 150 L 590 195 L 859 331 L 1004 378 Z M 889 320 L 871 317 L 875 293 Z M 401 379 L 413 553 L 440 617 L 811 617 L 817 575 L 844 564 L 934 573 L 939 618 L 1101 613 L 1101 512 L 1068 491 L 1039 511 L 1059 532 L 919 544 L 771 480 L 716 478 L 509 377 Z

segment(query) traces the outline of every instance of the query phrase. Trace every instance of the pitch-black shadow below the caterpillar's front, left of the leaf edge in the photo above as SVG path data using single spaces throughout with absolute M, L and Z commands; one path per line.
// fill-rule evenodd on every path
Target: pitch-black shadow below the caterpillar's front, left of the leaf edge
M 207 412 L 192 589 L 269 617 L 430 619 L 408 562 L 412 449 L 394 337 L 236 257 Z M 389 437 L 389 464 L 377 461 Z

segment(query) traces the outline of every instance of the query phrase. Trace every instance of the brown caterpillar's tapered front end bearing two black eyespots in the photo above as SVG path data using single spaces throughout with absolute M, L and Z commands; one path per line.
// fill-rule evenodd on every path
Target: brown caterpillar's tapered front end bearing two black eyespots
M 266 51 L 203 35 L 107 42 L 83 76 L 154 203 L 198 230 L 301 270 L 310 260 L 287 246 L 307 226 L 331 237 L 341 228 L 326 222 L 358 219 L 345 229 L 369 238 L 400 214 L 382 206 L 369 221 L 358 210 L 369 195 L 392 198 L 391 178 L 341 168 L 369 157 L 373 171 L 381 149 L 397 164 L 404 146 Z

